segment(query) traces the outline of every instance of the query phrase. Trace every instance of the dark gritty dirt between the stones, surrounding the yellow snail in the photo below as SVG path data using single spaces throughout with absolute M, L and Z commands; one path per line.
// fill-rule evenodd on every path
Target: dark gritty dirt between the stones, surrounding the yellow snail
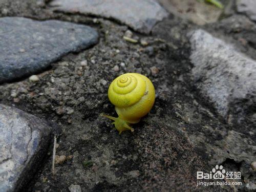
M 186 33 L 196 26 L 170 16 L 151 35 L 133 31 L 133 38 L 139 39 L 133 44 L 123 39 L 129 28 L 113 20 L 51 12 L 47 4 L 32 0 L 6 1 L 0 9 L 8 9 L 0 16 L 86 24 L 100 35 L 96 46 L 52 63 L 50 69 L 38 74 L 39 81 L 26 78 L 0 86 L 1 103 L 46 119 L 53 127 L 52 135 L 57 136 L 56 154 L 70 156 L 56 165 L 53 175 L 52 139 L 40 169 L 24 191 L 69 191 L 71 184 L 80 185 L 82 191 L 205 190 L 196 187 L 196 172 L 211 170 L 210 159 L 215 154 L 206 152 L 200 137 L 195 138 L 197 144 L 191 138 L 200 133 L 213 143 L 223 139 L 221 130 L 236 126 L 227 124 L 210 103 L 201 101 L 190 80 L 193 66 L 188 59 Z M 141 45 L 141 39 L 148 45 Z M 81 65 L 84 60 L 87 65 Z M 152 73 L 152 67 L 158 73 Z M 134 133 L 118 135 L 111 121 L 100 114 L 116 116 L 108 99 L 108 86 L 127 72 L 150 78 L 156 101 L 150 114 L 133 125 Z M 212 130 L 209 132 L 206 126 Z M 227 159 L 223 163 L 239 170 L 244 162 Z M 233 190 L 217 186 L 207 189 Z

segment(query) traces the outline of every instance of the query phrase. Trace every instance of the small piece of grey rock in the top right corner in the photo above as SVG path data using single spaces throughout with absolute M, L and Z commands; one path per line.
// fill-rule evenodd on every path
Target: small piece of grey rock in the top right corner
M 237 0 L 237 11 L 246 14 L 251 20 L 256 22 L 255 0 Z

